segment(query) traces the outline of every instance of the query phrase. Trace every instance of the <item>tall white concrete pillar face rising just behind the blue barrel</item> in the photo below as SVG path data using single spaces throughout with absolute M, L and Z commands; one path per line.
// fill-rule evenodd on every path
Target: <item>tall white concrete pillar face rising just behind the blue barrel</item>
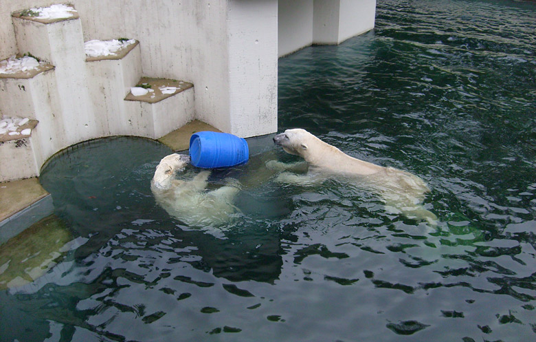
M 278 1 L 228 3 L 228 131 L 242 137 L 276 132 Z

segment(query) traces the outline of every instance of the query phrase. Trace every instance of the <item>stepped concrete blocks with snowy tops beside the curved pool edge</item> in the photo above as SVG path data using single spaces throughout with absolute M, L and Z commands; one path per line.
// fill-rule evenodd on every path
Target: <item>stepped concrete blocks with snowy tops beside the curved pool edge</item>
M 71 8 L 72 15 L 60 19 L 38 19 L 28 10 L 12 14 L 19 54 L 41 63 L 0 73 L 0 119 L 29 118 L 32 126 L 28 136 L 0 135 L 0 182 L 38 175 L 48 158 L 77 142 L 157 139 L 194 119 L 192 83 L 142 77 L 139 42 L 114 55 L 86 56 L 82 24 Z M 137 85 L 148 93 L 132 94 Z

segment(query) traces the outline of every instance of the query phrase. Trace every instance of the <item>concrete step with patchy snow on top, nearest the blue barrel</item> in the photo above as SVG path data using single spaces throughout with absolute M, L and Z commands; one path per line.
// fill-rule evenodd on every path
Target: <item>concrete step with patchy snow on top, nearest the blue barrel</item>
M 133 135 L 157 139 L 194 120 L 192 83 L 142 77 L 136 85 L 124 98 Z

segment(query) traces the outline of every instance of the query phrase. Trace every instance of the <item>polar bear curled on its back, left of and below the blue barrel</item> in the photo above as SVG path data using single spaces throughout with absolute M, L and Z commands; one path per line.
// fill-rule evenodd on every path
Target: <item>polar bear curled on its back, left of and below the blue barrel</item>
M 221 226 L 232 220 L 238 211 L 233 205 L 238 193 L 237 181 L 213 191 L 205 191 L 210 171 L 203 170 L 192 180 L 178 180 L 175 174 L 183 171 L 190 163 L 190 156 L 173 153 L 160 160 L 150 189 L 157 203 L 169 215 L 181 220 L 188 226 Z

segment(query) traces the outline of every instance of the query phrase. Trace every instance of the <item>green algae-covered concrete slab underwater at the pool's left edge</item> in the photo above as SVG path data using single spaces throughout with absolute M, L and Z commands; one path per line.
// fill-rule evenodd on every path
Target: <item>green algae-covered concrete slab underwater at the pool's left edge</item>
M 23 286 L 44 275 L 69 250 L 71 240 L 71 232 L 56 215 L 8 240 L 0 248 L 0 290 Z

